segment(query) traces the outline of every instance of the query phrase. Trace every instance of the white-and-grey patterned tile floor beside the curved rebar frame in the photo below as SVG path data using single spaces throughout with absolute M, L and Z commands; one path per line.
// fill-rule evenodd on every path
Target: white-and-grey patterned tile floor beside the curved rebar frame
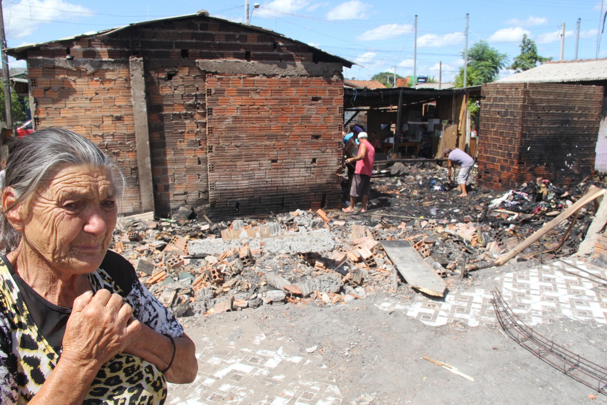
M 510 308 L 528 325 L 563 317 L 607 324 L 607 288 L 580 277 L 594 279 L 573 266 L 603 278 L 607 278 L 607 269 L 579 260 L 566 262 L 554 261 L 531 270 L 506 273 L 494 281 Z M 563 266 L 574 274 L 563 271 Z M 478 326 L 497 323 L 490 300 L 490 289 L 476 288 L 449 291 L 444 299 L 416 294 L 413 301 L 382 299 L 376 305 L 382 310 L 406 311 L 407 315 L 431 326 L 453 322 Z

